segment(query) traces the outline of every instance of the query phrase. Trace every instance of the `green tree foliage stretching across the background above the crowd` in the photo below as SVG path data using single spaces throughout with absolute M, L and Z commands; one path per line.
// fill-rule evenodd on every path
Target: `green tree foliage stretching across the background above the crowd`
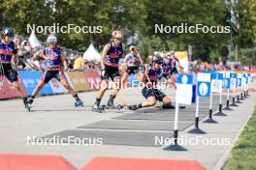
M 239 1 L 234 8 L 240 14 L 240 31 L 233 35 L 233 42 L 240 47 L 252 47 L 256 30 L 256 2 Z M 85 50 L 89 43 L 103 46 L 111 39 L 115 29 L 124 31 L 125 41 L 133 35 L 139 37 L 144 56 L 152 48 L 184 50 L 187 44 L 195 46 L 196 58 L 215 61 L 222 54 L 223 46 L 230 41 L 230 34 L 155 34 L 155 24 L 229 25 L 230 12 L 223 0 L 0 0 L 1 26 L 13 27 L 16 33 L 26 33 L 27 24 L 103 26 L 101 34 L 59 34 L 61 45 Z M 37 34 L 45 41 L 47 35 Z

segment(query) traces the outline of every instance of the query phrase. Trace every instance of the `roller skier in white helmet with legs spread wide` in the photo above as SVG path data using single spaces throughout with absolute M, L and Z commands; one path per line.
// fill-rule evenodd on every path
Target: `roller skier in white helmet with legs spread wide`
M 82 105 L 78 94 L 71 88 L 67 81 L 64 71 L 68 71 L 68 65 L 62 48 L 57 46 L 57 38 L 54 35 L 48 36 L 48 47 L 42 51 L 42 57 L 47 60 L 47 71 L 43 73 L 39 84 L 34 89 L 32 96 L 28 102 L 32 104 L 33 99 L 38 95 L 39 91 L 48 83 L 51 78 L 56 78 L 76 99 L 75 105 Z M 64 71 L 62 70 L 64 66 Z

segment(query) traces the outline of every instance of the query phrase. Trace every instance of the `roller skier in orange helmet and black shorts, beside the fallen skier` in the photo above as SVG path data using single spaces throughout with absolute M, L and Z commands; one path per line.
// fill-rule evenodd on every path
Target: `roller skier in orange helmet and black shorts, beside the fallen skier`
M 108 86 L 109 78 L 120 85 L 119 59 L 122 58 L 125 46 L 122 43 L 123 33 L 119 30 L 112 32 L 112 40 L 104 46 L 101 55 L 101 89 L 98 93 L 93 109 L 99 109 L 101 99 L 103 98 Z M 109 107 L 114 107 L 113 99 L 119 91 L 119 87 L 114 87 L 112 95 L 108 101 Z

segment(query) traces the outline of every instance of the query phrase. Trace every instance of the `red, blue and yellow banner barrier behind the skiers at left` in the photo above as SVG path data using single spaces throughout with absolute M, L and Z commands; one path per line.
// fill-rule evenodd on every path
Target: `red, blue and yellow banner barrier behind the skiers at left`
M 31 95 L 43 73 L 43 71 L 18 71 L 18 79 L 22 91 L 27 95 Z M 97 84 L 97 82 L 100 81 L 98 71 L 68 71 L 65 72 L 65 75 L 71 86 L 77 92 L 95 90 L 96 86 L 91 87 L 91 84 Z M 67 90 L 60 82 L 52 78 L 39 92 L 39 96 L 64 93 L 67 93 Z M 16 92 L 15 87 L 4 77 L 2 81 L 0 81 L 0 99 L 12 99 L 17 97 L 19 97 L 19 94 Z

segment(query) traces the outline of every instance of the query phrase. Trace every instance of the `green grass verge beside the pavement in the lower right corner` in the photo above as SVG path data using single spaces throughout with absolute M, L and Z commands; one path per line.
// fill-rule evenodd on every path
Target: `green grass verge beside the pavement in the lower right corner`
M 223 170 L 256 169 L 256 107 Z

